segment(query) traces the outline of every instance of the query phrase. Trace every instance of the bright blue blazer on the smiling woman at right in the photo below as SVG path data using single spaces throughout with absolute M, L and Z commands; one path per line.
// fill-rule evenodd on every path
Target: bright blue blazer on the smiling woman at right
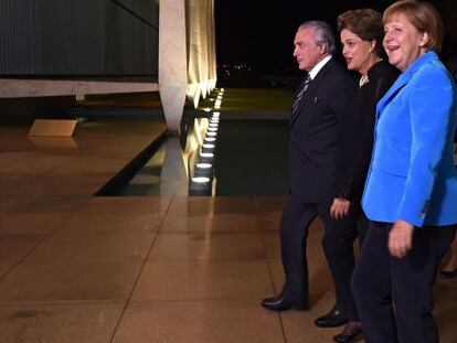
M 362 197 L 371 221 L 415 226 L 457 223 L 457 124 L 451 76 L 429 51 L 379 101 L 374 147 Z

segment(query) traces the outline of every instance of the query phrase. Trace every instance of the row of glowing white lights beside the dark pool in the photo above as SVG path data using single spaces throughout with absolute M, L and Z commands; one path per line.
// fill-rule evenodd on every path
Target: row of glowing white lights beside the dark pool
M 220 89 L 217 99 L 214 104 L 215 109 L 221 108 L 224 89 Z M 199 153 L 199 162 L 194 168 L 194 176 L 189 185 L 189 195 L 211 195 L 213 181 L 213 165 L 217 139 L 219 122 L 221 119 L 220 111 L 213 111 L 203 139 L 203 144 Z

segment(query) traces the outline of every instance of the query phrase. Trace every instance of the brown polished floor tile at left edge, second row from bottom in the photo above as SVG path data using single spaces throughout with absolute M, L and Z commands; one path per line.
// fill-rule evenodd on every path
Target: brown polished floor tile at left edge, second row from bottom
M 138 262 L 20 264 L 0 282 L 3 303 L 126 301 Z

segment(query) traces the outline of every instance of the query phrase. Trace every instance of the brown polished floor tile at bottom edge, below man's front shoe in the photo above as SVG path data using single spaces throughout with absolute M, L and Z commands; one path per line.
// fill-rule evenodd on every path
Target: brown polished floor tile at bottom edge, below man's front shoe
M 277 314 L 252 301 L 134 302 L 114 343 L 284 343 Z

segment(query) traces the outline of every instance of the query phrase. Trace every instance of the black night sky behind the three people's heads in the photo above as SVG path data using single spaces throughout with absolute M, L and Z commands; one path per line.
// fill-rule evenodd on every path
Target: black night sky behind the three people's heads
M 392 0 L 215 0 L 217 64 L 247 63 L 258 73 L 294 74 L 293 41 L 306 20 L 325 20 L 336 29 L 337 17 L 349 9 L 382 12 Z M 442 2 L 429 1 L 440 10 Z M 456 10 L 457 14 L 457 9 Z M 454 15 L 453 14 L 453 15 Z M 448 15 L 449 17 L 449 15 Z M 445 22 L 448 18 L 444 18 Z M 454 19 L 455 22 L 455 19 Z M 456 30 L 457 31 L 457 30 Z M 337 36 L 338 40 L 338 36 Z

